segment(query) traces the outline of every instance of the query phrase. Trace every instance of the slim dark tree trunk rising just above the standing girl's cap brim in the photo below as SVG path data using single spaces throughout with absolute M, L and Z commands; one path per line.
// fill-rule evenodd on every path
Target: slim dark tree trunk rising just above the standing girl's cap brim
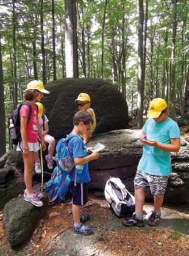
M 43 0 L 40 0 L 40 28 L 41 28 L 41 54 L 42 54 L 42 77 L 43 84 L 46 84 L 46 64 L 45 64 L 45 39 L 43 31 Z

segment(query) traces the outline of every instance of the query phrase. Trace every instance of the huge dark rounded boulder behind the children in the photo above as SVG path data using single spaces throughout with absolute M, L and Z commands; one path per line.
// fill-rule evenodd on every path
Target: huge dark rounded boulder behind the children
M 95 134 L 128 128 L 128 108 L 121 93 L 107 81 L 96 78 L 65 78 L 46 85 L 51 94 L 43 99 L 49 118 L 49 134 L 59 140 L 73 129 L 77 111 L 74 100 L 85 92 L 91 97 L 96 114 Z

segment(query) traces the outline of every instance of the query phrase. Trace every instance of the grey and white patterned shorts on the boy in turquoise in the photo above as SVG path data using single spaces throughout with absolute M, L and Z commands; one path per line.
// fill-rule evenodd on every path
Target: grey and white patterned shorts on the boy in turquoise
M 162 196 L 165 194 L 167 182 L 168 176 L 149 175 L 148 173 L 137 171 L 134 185 L 135 189 L 149 186 L 152 195 Z

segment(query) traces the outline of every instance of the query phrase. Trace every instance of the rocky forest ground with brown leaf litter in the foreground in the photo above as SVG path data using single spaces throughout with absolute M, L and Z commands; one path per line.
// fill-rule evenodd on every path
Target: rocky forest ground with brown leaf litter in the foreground
M 145 219 L 151 212 L 145 206 Z M 90 195 L 84 213 L 90 214 L 91 236 L 73 234 L 71 203 L 49 206 L 34 235 L 23 246 L 10 248 L 0 222 L 0 255 L 134 256 L 189 255 L 189 208 L 164 206 L 159 227 L 127 228 L 121 224 L 104 198 Z M 0 213 L 2 218 L 2 213 Z

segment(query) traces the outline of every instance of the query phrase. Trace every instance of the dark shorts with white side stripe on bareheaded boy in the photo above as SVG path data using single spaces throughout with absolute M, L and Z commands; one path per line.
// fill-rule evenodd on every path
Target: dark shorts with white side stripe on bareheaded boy
M 70 183 L 73 205 L 85 205 L 88 201 L 88 183 L 77 183 L 74 186 L 74 181 Z

